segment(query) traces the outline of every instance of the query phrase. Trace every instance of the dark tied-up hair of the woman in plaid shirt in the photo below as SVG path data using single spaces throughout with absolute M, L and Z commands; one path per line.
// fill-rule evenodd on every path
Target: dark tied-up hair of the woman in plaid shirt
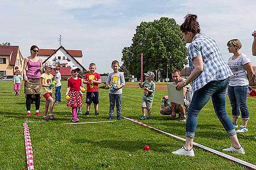
M 188 14 L 184 19 L 184 23 L 180 25 L 181 32 L 200 33 L 200 25 L 199 22 L 196 21 L 196 15 Z

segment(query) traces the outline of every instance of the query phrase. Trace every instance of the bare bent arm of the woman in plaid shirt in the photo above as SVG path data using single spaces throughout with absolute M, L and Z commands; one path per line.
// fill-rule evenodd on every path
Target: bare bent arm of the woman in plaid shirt
M 193 60 L 193 65 L 194 65 L 195 69 L 193 70 L 191 75 L 189 75 L 188 78 L 186 79 L 187 84 L 192 82 L 194 79 L 196 79 L 197 76 L 199 76 L 204 70 L 204 62 L 203 62 L 202 56 L 197 56 L 197 57 L 193 58 L 192 60 Z M 182 87 L 184 87 L 183 82 L 177 83 L 177 87 L 176 87 L 177 90 L 180 90 L 180 88 L 182 88 Z

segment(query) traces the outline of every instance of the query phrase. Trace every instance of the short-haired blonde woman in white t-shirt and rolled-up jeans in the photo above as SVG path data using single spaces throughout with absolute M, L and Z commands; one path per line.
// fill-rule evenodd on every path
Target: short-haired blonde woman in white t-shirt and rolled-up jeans
M 233 72 L 228 86 L 228 95 L 232 107 L 233 125 L 238 128 L 237 120 L 242 115 L 242 125 L 237 130 L 238 133 L 244 133 L 247 130 L 249 120 L 249 111 L 247 107 L 247 90 L 251 79 L 253 78 L 253 66 L 250 59 L 240 52 L 242 44 L 240 40 L 233 39 L 228 41 L 229 53 L 233 56 L 229 58 L 228 66 Z

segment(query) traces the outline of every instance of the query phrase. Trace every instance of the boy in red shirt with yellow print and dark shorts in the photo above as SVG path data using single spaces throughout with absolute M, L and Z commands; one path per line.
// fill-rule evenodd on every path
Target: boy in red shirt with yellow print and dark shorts
M 90 104 L 93 102 L 95 115 L 98 116 L 98 84 L 101 84 L 101 76 L 96 73 L 96 64 L 90 63 L 90 73 L 85 74 L 84 83 L 86 84 L 86 113 L 85 116 L 89 116 Z

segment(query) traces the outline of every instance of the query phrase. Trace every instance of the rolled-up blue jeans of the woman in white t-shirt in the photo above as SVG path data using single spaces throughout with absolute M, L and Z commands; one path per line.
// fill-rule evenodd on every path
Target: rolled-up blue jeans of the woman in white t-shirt
M 249 119 L 249 111 L 247 107 L 247 90 L 248 86 L 228 86 L 229 100 L 232 107 L 232 116 L 240 117 L 242 120 Z

